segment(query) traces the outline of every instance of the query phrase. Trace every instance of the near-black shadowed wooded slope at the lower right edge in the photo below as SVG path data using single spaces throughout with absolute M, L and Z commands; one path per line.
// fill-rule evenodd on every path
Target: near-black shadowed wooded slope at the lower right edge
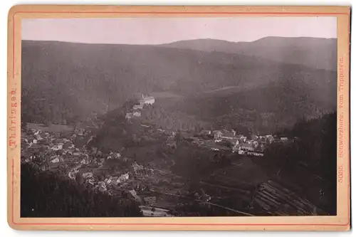
M 305 196 L 328 213 L 336 214 L 337 114 L 300 119 L 283 135 L 296 137 L 290 144 L 268 147 L 260 162 L 278 179 L 293 182 Z M 303 174 L 300 176 L 300 174 Z M 318 186 L 321 189 L 310 189 Z

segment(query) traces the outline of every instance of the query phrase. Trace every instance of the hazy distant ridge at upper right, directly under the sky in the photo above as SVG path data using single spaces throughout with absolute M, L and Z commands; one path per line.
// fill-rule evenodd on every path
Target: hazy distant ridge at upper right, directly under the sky
M 206 52 L 238 53 L 305 65 L 310 68 L 337 70 L 337 39 L 268 36 L 251 42 L 230 42 L 211 38 L 162 44 L 169 48 L 189 48 Z

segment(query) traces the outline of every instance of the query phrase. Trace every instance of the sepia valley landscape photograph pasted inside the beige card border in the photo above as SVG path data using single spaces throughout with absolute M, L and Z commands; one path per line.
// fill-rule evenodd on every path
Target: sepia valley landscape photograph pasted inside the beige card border
M 337 16 L 19 22 L 20 218 L 340 214 Z

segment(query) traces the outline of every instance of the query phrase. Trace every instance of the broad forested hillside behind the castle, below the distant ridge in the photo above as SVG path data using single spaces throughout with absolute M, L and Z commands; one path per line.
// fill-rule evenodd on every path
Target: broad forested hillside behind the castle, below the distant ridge
M 277 46 L 273 43 L 273 47 Z M 329 110 L 336 101 L 336 73 L 331 70 L 236 53 L 166 46 L 23 41 L 21 60 L 21 112 L 25 122 L 73 123 L 93 112 L 104 114 L 121 107 L 135 93 L 162 91 L 185 98 L 180 104 L 182 113 L 196 116 L 197 120 L 216 120 L 232 109 L 246 107 L 256 110 L 258 115 L 273 112 L 270 108 L 278 110 L 284 119 L 290 111 L 280 108 L 290 107 L 296 100 L 297 107 L 304 108 L 293 109 L 293 115 Z M 329 59 L 318 59 L 325 60 Z M 290 81 L 300 81 L 300 85 Z M 238 91 L 229 95 L 224 94 L 225 90 L 222 94 L 206 93 L 229 87 Z M 229 101 L 234 101 L 234 105 Z M 191 110 L 197 112 L 190 113 Z

